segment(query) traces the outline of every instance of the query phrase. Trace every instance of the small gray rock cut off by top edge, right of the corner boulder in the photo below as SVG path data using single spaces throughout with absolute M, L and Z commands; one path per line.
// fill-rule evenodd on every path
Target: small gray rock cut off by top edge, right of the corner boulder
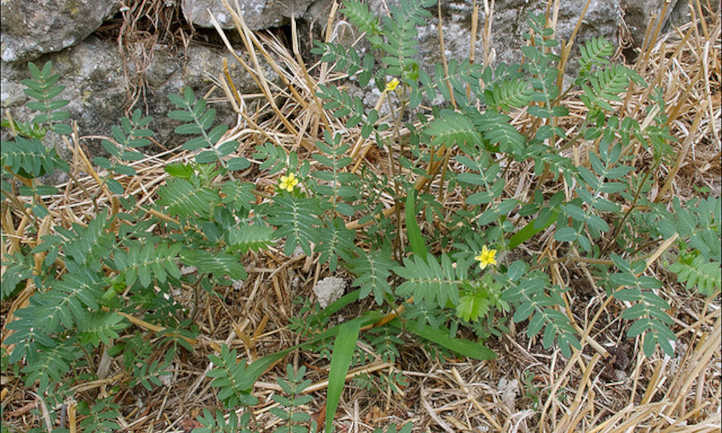
M 240 0 L 238 6 L 243 20 L 251 30 L 277 27 L 286 23 L 291 16 L 303 16 L 313 0 Z M 228 0 L 235 7 L 236 0 Z M 225 29 L 233 28 L 230 12 L 221 0 L 183 0 L 181 3 L 186 20 L 199 27 L 213 27 L 209 12 Z

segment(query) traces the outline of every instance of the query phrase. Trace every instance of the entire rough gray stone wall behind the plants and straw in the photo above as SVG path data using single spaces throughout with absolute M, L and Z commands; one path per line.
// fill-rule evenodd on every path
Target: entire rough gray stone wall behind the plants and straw
M 368 3 L 373 10 L 383 13 L 394 1 L 368 0 Z M 639 44 L 640 33 L 643 34 L 651 16 L 661 11 L 664 1 L 592 0 L 578 40 L 603 36 L 619 43 L 619 35 L 628 34 Z M 22 109 L 27 97 L 20 81 L 29 76 L 29 61 L 38 65 L 53 61 L 55 70 L 63 77 L 60 84 L 66 86 L 61 97 L 71 101 L 68 109 L 72 118 L 78 120 L 83 134 L 107 134 L 111 125 L 116 124 L 129 108 L 133 99 L 128 97 L 132 84 L 140 82 L 143 88 L 136 95 L 136 107 L 154 117 L 151 127 L 158 132 L 156 139 L 161 143 L 168 141 L 172 137 L 173 123 L 165 118 L 169 109 L 167 95 L 179 92 L 183 86 L 205 93 L 212 87 L 211 77 L 217 77 L 221 72 L 224 57 L 233 68 L 232 75 L 240 90 L 257 92 L 253 80 L 223 47 L 200 41 L 190 41 L 185 47 L 163 43 L 148 46 L 143 45 L 146 38 L 137 46 L 143 57 L 142 65 L 127 62 L 124 67 L 118 43 L 99 37 L 97 30 L 114 16 L 117 19 L 120 13 L 132 12 L 140 3 L 131 0 L 125 3 L 119 0 L 3 0 L 0 3 L 0 100 L 3 112 L 9 109 L 20 120 L 28 118 Z M 287 25 L 292 16 L 301 24 L 308 26 L 313 22 L 315 28 L 320 29 L 326 24 L 331 0 L 229 0 L 229 3 L 238 3 L 244 20 L 254 30 Z M 481 7 L 481 31 L 486 18 L 484 4 L 492 1 L 478 0 L 477 3 Z M 532 11 L 543 11 L 546 3 L 530 0 L 495 2 L 490 41 L 493 61 L 518 60 L 518 48 L 526 31 L 526 16 Z M 584 3 L 584 0 L 561 0 L 557 26 L 560 37 L 569 37 Z M 686 4 L 686 0 L 671 1 L 667 22 L 679 24 L 684 21 Z M 223 27 L 232 27 L 230 14 L 221 0 L 154 0 L 153 5 L 156 11 L 179 8 L 180 11 L 176 10 L 180 12 L 178 16 L 182 15 L 198 29 L 210 27 L 209 11 Z M 442 0 L 447 58 L 469 55 L 472 10 L 472 0 Z M 433 15 L 435 17 L 428 25 L 419 28 L 420 54 L 426 63 L 440 59 L 436 10 Z M 301 34 L 305 37 L 307 32 Z M 303 43 L 310 46 L 310 41 Z M 482 44 L 479 35 L 474 47 L 477 61 L 483 58 Z M 243 54 L 240 45 L 238 53 Z M 273 79 L 273 72 L 268 70 L 267 77 Z M 235 115 L 227 105 L 219 104 L 216 109 L 221 119 L 235 123 Z

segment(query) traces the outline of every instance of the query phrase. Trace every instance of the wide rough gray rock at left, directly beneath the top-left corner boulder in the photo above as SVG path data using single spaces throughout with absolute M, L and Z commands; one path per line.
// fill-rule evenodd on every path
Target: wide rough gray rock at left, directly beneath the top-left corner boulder
M 141 74 L 146 87 L 134 108 L 140 108 L 145 115 L 153 117 L 150 128 L 156 133 L 155 139 L 161 143 L 171 141 L 169 147 L 178 145 L 187 138 L 177 137 L 173 129 L 178 122 L 168 119 L 166 114 L 175 109 L 168 100 L 168 94 L 180 93 L 184 86 L 190 86 L 196 96 L 202 96 L 211 86 L 211 77 L 218 77 L 222 71 L 223 58 L 228 60 L 229 72 L 234 84 L 241 92 L 256 92 L 257 87 L 247 72 L 232 58 L 226 50 L 191 44 L 186 56 L 166 46 L 156 45 L 150 53 L 147 68 L 136 71 L 135 65 L 128 65 L 128 78 L 136 82 Z M 240 53 L 238 53 L 240 54 Z M 81 135 L 109 135 L 112 125 L 126 115 L 128 105 L 126 81 L 123 63 L 114 42 L 91 36 L 80 44 L 59 53 L 45 55 L 35 62 L 39 67 L 52 60 L 53 70 L 61 75 L 59 84 L 66 88 L 60 98 L 70 104 L 65 107 L 71 113 L 71 119 L 77 120 Z M 22 121 L 32 118 L 24 107 L 28 97 L 23 93 L 20 81 L 29 77 L 27 66 L 18 63 L 2 64 L 2 107 L 9 108 L 12 115 Z M 265 67 L 266 77 L 277 79 L 270 67 Z M 217 94 L 219 95 L 219 94 Z M 213 105 L 217 112 L 217 122 L 229 126 L 235 123 L 235 113 L 227 103 Z M 63 148 L 62 141 L 49 143 Z M 91 153 L 102 154 L 98 140 L 87 142 Z

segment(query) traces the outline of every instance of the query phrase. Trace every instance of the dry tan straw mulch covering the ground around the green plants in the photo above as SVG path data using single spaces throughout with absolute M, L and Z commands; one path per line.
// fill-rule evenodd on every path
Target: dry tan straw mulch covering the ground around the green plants
M 720 195 L 720 18 L 703 14 L 699 1 L 690 1 L 690 5 L 693 23 L 668 34 L 658 35 L 660 26 L 654 20 L 650 22 L 642 52 L 633 65 L 649 83 L 664 90 L 669 126 L 678 139 L 672 143 L 675 159 L 655 174 L 651 194 L 661 200 L 674 196 L 684 201 L 698 194 L 696 190 L 700 187 L 708 188 L 712 196 Z M 335 12 L 332 10 L 329 17 L 327 40 L 335 28 Z M 304 63 L 297 48 L 295 26 L 293 44 L 288 48 L 270 34 L 249 31 L 238 20 L 240 17 L 234 18 L 247 50 L 247 55 L 237 60 L 253 74 L 262 93 L 240 95 L 229 77 L 220 76 L 218 87 L 206 96 L 212 103 L 232 104 L 238 113 L 238 123 L 227 136 L 241 144 L 238 153 L 250 158 L 256 145 L 270 141 L 297 151 L 304 159 L 314 151 L 322 131 L 331 130 L 348 137 L 347 142 L 357 149 L 359 164 L 385 172 L 387 155 L 376 148 L 373 140 L 357 139 L 358 131 L 346 130 L 322 108 L 315 96 L 317 86 L 343 83 L 344 77 L 330 73 L 326 65 Z M 279 75 L 279 81 L 266 79 L 261 67 L 264 62 Z M 645 107 L 651 105 L 652 87 L 632 87 L 623 104 L 619 104 L 620 111 L 635 117 L 640 124 L 650 122 L 655 113 L 647 113 Z M 569 125 L 585 114 L 580 103 L 572 102 L 572 96 Z M 519 112 L 515 122 L 523 127 L 529 119 Z M 46 221 L 44 231 L 54 225 L 67 227 L 74 222 L 86 222 L 89 214 L 110 204 L 109 195 L 98 188 L 95 173 L 82 150 L 87 148 L 87 140 L 76 134 L 70 143 L 75 152 L 73 171 L 78 182 L 65 185 L 64 194 L 49 205 L 52 218 Z M 584 152 L 580 149 L 565 152 L 576 162 L 584 163 L 580 159 Z M 636 167 L 641 169 L 649 163 L 646 150 L 635 149 L 634 154 Z M 166 178 L 163 166 L 191 158 L 192 155 L 172 149 L 137 162 L 136 178 L 118 180 L 138 198 L 139 205 L 148 208 Z M 507 192 L 523 198 L 532 179 L 531 167 L 515 168 L 509 170 L 514 175 L 507 179 Z M 244 173 L 244 178 L 269 193 L 277 183 L 277 179 L 253 167 Z M 432 191 L 435 187 L 431 185 Z M 559 190 L 566 185 L 552 185 L 548 181 L 545 187 Z M 389 208 L 393 205 L 391 198 L 380 199 Z M 446 205 L 453 207 L 462 203 L 463 197 L 450 191 L 446 200 Z M 27 221 L 18 223 L 4 218 L 3 229 L 9 235 L 2 246 L 3 253 L 14 251 L 20 243 L 35 242 L 37 238 L 26 234 L 26 226 Z M 349 226 L 356 225 L 350 222 Z M 528 248 L 553 254 L 547 248 L 550 241 L 551 237 L 545 234 Z M 555 283 L 573 288 L 568 297 L 569 313 L 584 335 L 583 351 L 565 359 L 559 351 L 544 350 L 537 339 L 529 340 L 523 330 L 513 327 L 511 334 L 488 342 L 498 354 L 498 359 L 490 362 L 440 361 L 425 346 L 407 338 L 407 344 L 399 348 L 400 358 L 391 364 L 376 359 L 373 349 L 363 345 L 361 350 L 369 355 L 369 360 L 352 374 L 365 373 L 375 381 L 370 388 L 360 387 L 360 382 L 347 382 L 336 417 L 338 431 L 370 432 L 374 427 L 405 421 L 415 424 L 414 431 L 449 433 L 719 431 L 720 300 L 691 294 L 676 283 L 674 275 L 659 266 L 660 255 L 669 247 L 669 243 L 663 243 L 650 250 L 646 272 L 665 282 L 661 292 L 672 305 L 677 325 L 674 357 L 658 352 L 651 359 L 645 358 L 640 341 L 627 340 L 624 335 L 628 324 L 619 319 L 623 306 L 609 302 L 583 263 L 573 266 L 560 263 L 552 268 L 552 276 Z M 201 299 L 196 316 L 201 334 L 195 342 L 196 350 L 182 353 L 176 359 L 167 386 L 152 394 L 121 386 L 115 401 L 123 407 L 118 422 L 126 431 L 182 432 L 197 427 L 194 419 L 201 410 L 217 407 L 205 374 L 209 367 L 207 355 L 218 350 L 219 344 L 226 343 L 244 357 L 254 359 L 297 343 L 298 337 L 288 324 L 299 306 L 291 300 L 312 296 L 311 288 L 328 274 L 327 270 L 314 258 L 287 258 L 276 249 L 252 254 L 246 268 L 249 277 L 245 286 L 224 293 L 225 303 L 209 297 Z M 31 289 L 12 304 L 3 305 L 3 313 L 12 314 L 27 303 L 30 295 Z M 178 300 L 192 303 L 191 298 L 192 294 L 181 293 Z M 367 306 L 344 311 L 344 317 Z M 134 319 L 139 328 L 157 331 L 153 324 Z M 314 382 L 307 390 L 314 396 L 308 410 L 322 420 L 328 360 L 318 353 L 297 352 L 285 362 L 308 367 L 308 377 Z M 79 398 L 93 400 L 107 395 L 112 386 L 127 379 L 120 371 L 113 363 L 105 378 L 78 385 Z M 381 380 L 399 373 L 407 380 L 405 386 L 393 387 Z M 274 405 L 270 396 L 278 391 L 275 377 L 279 374 L 283 374 L 283 368 L 277 367 L 256 384 L 255 394 L 261 403 L 254 408 L 254 416 L 265 426 L 263 431 L 278 425 L 269 409 Z M 43 422 L 31 415 L 36 413 L 33 409 L 42 406 L 40 400 L 23 389 L 17 378 L 3 376 L 3 386 L 4 422 L 16 426 Z

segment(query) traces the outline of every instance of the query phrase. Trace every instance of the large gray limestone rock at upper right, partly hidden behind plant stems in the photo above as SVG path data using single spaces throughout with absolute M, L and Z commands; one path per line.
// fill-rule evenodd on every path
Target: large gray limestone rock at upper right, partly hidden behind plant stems
M 661 13 L 665 1 L 592 0 L 575 39 L 575 50 L 572 52 L 568 72 L 575 70 L 579 46 L 592 38 L 601 36 L 615 45 L 622 42 L 632 42 L 639 46 L 642 42 L 640 35 L 644 34 L 646 23 L 649 22 L 653 15 Z M 479 34 L 476 37 L 474 51 L 475 61 L 481 62 L 484 54 L 482 33 L 486 14 L 483 7 L 484 2 L 478 1 L 477 3 L 480 5 Z M 528 31 L 527 17 L 530 13 L 544 13 L 546 3 L 528 0 L 496 0 L 490 41 L 493 63 L 513 63 L 520 60 L 520 48 L 526 43 L 524 34 Z M 557 40 L 567 41 L 569 39 L 585 3 L 582 0 L 564 0 L 561 2 L 557 19 L 557 33 L 555 35 Z M 378 14 L 385 13 L 385 5 L 389 5 L 389 7 L 397 5 L 398 0 L 368 0 L 368 4 L 370 9 Z M 685 15 L 686 4 L 687 0 L 671 0 L 668 13 L 665 15 L 664 28 L 669 28 L 670 25 L 680 25 L 685 22 L 685 19 L 689 19 L 688 15 Z M 314 8 L 321 11 L 325 10 L 316 4 L 314 4 Z M 309 11 L 314 8 L 309 8 Z M 437 27 L 438 13 L 436 7 L 431 8 L 430 11 L 433 18 L 429 20 L 427 25 L 420 27 L 418 30 L 419 58 L 423 61 L 422 66 L 441 62 Z M 441 1 L 444 54 L 447 59 L 460 60 L 469 58 L 472 13 L 473 2 L 470 0 Z M 320 17 L 314 18 L 323 22 Z M 625 27 L 629 29 L 629 32 L 620 32 Z M 342 33 L 343 31 L 344 27 L 339 27 L 339 32 Z M 620 34 L 631 40 L 620 41 Z M 344 37 L 343 39 L 350 40 L 351 38 Z

